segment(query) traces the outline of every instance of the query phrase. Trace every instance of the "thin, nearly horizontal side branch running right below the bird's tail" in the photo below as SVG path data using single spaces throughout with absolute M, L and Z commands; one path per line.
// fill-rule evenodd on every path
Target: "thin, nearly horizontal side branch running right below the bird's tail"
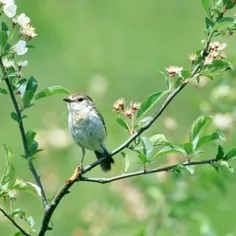
M 194 166 L 194 165 L 196 166 L 196 165 L 204 165 L 204 164 L 211 165 L 215 161 L 216 161 L 215 158 L 208 159 L 208 160 L 202 160 L 202 161 L 191 161 L 191 162 L 185 162 L 185 163 L 181 163 L 181 164 L 170 165 L 170 166 L 166 166 L 166 167 L 162 167 L 162 168 L 136 171 L 136 172 L 132 172 L 132 173 L 128 173 L 128 174 L 118 175 L 118 176 L 115 176 L 112 178 L 88 178 L 88 177 L 81 176 L 79 180 L 84 181 L 84 182 L 107 184 L 107 183 L 111 183 L 111 182 L 114 182 L 114 181 L 117 181 L 120 179 L 127 179 L 127 178 L 131 178 L 131 177 L 139 176 L 139 175 L 147 175 L 147 174 L 152 174 L 152 173 L 157 173 L 157 172 L 171 171 L 179 165 L 182 165 L 182 166 Z

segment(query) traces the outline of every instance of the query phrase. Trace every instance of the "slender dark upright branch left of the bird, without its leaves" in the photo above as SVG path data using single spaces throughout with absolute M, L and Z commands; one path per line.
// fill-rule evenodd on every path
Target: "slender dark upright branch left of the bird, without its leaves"
M 4 66 L 3 66 L 2 58 L 1 57 L 0 57 L 0 66 L 2 68 L 3 75 L 4 75 L 4 80 L 6 82 L 6 85 L 7 85 L 7 88 L 9 90 L 13 106 L 15 108 L 15 111 L 16 111 L 16 114 L 17 114 L 17 117 L 18 117 L 18 126 L 19 126 L 19 129 L 20 129 L 20 134 L 21 134 L 21 139 L 22 139 L 22 143 L 23 143 L 23 147 L 24 147 L 25 157 L 28 160 L 29 169 L 30 169 L 31 173 L 34 176 L 34 179 L 35 179 L 38 187 L 41 190 L 41 194 L 42 194 L 41 199 L 42 199 L 44 208 L 47 208 L 48 201 L 47 201 L 47 197 L 46 197 L 46 194 L 44 192 L 44 189 L 43 189 L 43 185 L 42 185 L 42 183 L 40 181 L 40 177 L 39 177 L 39 175 L 38 175 L 38 173 L 37 173 L 37 171 L 36 171 L 36 169 L 34 167 L 34 164 L 30 160 L 30 151 L 29 151 L 28 144 L 27 144 L 27 139 L 26 139 L 24 124 L 23 124 L 23 121 L 22 121 L 21 111 L 20 111 L 20 108 L 19 108 L 19 106 L 17 104 L 16 98 L 15 98 L 15 95 L 14 95 L 14 92 L 13 92 L 13 89 L 12 89 L 12 85 L 11 85 L 10 80 L 8 78 L 7 72 L 6 72 L 6 70 L 5 70 Z

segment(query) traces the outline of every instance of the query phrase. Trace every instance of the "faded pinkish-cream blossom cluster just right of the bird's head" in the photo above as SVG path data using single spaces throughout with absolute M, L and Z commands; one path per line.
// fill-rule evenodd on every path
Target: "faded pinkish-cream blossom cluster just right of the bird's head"
M 139 102 L 130 102 L 129 107 L 125 107 L 126 101 L 124 98 L 119 98 L 113 104 L 113 111 L 123 114 L 125 117 L 132 119 L 134 114 L 138 111 L 140 107 Z

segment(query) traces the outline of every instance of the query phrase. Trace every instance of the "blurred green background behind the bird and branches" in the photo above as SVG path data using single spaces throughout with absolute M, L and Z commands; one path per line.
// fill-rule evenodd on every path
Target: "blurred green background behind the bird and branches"
M 170 64 L 189 68 L 188 53 L 200 49 L 200 41 L 204 39 L 205 13 L 201 1 L 18 0 L 17 5 L 18 13 L 30 16 L 38 33 L 32 41 L 36 48 L 25 56 L 29 60 L 25 75 L 34 75 L 40 89 L 62 85 L 71 92 L 88 93 L 105 118 L 109 150 L 128 137 L 116 124 L 113 102 L 119 97 L 143 101 L 149 94 L 165 89 L 159 71 Z M 228 54 L 233 57 L 235 39 L 226 40 Z M 213 87 L 222 80 L 231 83 L 230 78 L 230 75 L 220 76 L 204 89 L 188 86 L 147 135 L 164 132 L 173 142 L 186 140 L 193 120 L 202 114 L 201 108 L 211 106 L 207 101 Z M 45 149 L 37 156 L 35 166 L 49 198 L 56 194 L 81 158 L 80 149 L 73 144 L 67 130 L 67 108 L 62 98 L 38 101 L 27 111 L 25 120 L 27 129 L 38 132 L 37 140 Z M 33 181 L 27 162 L 20 157 L 22 144 L 17 125 L 10 119 L 13 108 L 9 97 L 0 95 L 0 107 L 0 141 L 15 153 L 17 176 Z M 211 111 L 221 112 L 218 107 Z M 176 127 L 169 129 L 165 125 L 167 117 L 175 119 Z M 226 150 L 235 145 L 232 129 L 227 131 L 227 139 Z M 214 157 L 216 148 L 215 144 L 210 145 L 201 158 Z M 0 155 L 2 170 L 2 150 Z M 162 162 L 173 163 L 175 158 L 163 158 Z M 89 176 L 121 174 L 121 155 L 115 160 L 110 173 L 104 174 L 97 168 Z M 87 152 L 86 163 L 92 161 L 93 153 Z M 130 162 L 131 170 L 141 168 L 132 153 Z M 233 236 L 236 235 L 234 183 L 234 174 L 218 175 L 210 166 L 197 167 L 195 175 L 186 173 L 183 177 L 162 173 L 107 185 L 78 183 L 57 208 L 52 218 L 54 229 L 47 235 Z M 39 199 L 23 193 L 14 204 L 32 215 L 36 228 L 39 227 L 42 218 Z M 1 235 L 15 232 L 1 215 L 0 231 Z

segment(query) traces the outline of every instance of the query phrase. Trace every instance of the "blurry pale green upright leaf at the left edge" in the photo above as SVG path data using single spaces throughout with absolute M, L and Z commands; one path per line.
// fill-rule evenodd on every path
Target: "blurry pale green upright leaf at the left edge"
M 5 144 L 3 144 L 5 151 L 5 166 L 3 170 L 3 176 L 0 181 L 0 185 L 8 184 L 15 178 L 15 168 L 13 166 L 13 153 L 12 150 Z

